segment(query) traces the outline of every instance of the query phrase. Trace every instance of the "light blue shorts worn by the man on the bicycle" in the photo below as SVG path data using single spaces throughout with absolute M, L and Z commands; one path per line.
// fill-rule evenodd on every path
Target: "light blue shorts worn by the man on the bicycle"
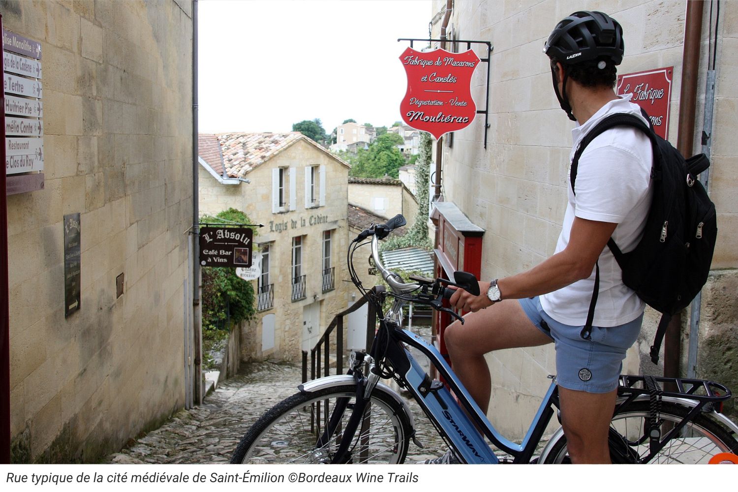
M 556 382 L 559 386 L 590 393 L 607 393 L 618 387 L 625 352 L 638 339 L 643 314 L 624 325 L 592 327 L 589 340 L 579 333 L 582 326 L 557 322 L 541 307 L 538 297 L 520 299 L 528 319 L 554 340 Z

